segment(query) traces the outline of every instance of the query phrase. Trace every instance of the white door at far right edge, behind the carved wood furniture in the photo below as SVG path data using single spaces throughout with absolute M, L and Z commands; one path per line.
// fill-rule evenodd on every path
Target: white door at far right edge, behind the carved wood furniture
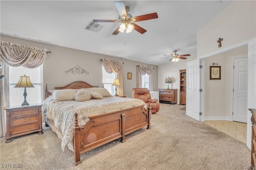
M 256 38 L 248 43 L 248 108 L 256 108 Z M 247 147 L 251 149 L 252 113 L 247 111 Z

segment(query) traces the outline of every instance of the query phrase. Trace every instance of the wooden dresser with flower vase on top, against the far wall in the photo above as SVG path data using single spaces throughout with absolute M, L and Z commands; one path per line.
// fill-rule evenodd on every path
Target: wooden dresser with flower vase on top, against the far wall
M 159 103 L 176 104 L 177 89 L 158 89 Z

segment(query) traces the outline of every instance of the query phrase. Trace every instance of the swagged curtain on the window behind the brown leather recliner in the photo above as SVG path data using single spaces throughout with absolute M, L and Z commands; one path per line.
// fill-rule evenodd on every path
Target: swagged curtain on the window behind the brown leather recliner
M 137 88 L 144 88 L 144 86 L 142 86 L 142 75 L 146 75 L 148 74 L 149 76 L 149 91 L 153 91 L 153 67 L 151 66 L 142 66 L 142 65 L 138 65 L 137 66 Z

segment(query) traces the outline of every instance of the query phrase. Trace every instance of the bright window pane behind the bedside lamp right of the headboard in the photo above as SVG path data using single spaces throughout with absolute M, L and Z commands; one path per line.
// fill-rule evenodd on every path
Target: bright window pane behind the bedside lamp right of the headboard
M 106 72 L 104 66 L 102 65 L 102 84 L 104 88 L 106 88 L 112 96 L 115 95 L 116 86 L 112 86 L 114 79 L 116 78 L 115 73 Z

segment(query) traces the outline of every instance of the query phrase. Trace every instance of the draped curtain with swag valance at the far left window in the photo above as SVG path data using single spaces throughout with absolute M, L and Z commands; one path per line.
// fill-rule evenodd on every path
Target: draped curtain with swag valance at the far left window
M 4 137 L 6 133 L 4 106 L 9 105 L 9 66 L 36 68 L 46 59 L 47 49 L 5 41 L 1 41 L 0 49 L 0 64 L 2 66 L 0 73 L 5 76 L 0 80 L 0 137 Z

